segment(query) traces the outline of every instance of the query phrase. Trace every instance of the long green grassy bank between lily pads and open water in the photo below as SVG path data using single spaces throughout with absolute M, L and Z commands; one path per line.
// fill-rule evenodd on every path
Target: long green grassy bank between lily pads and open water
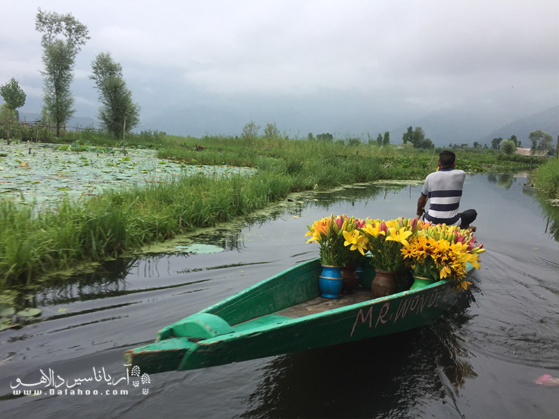
M 87 141 L 76 137 L 68 142 L 115 145 L 108 137 L 87 135 Z M 31 284 L 48 272 L 101 261 L 143 244 L 213 226 L 261 209 L 289 192 L 377 179 L 423 179 L 435 170 L 438 151 L 256 136 L 198 139 L 143 133 L 127 140 L 127 147 L 157 148 L 161 159 L 250 166 L 258 172 L 249 177 L 198 175 L 107 191 L 87 200 L 66 199 L 57 212 L 37 214 L 33 207 L 0 200 L 1 288 Z M 203 145 L 203 151 L 199 147 L 197 151 L 196 145 Z M 479 172 L 498 161 L 494 154 L 458 154 L 457 168 Z

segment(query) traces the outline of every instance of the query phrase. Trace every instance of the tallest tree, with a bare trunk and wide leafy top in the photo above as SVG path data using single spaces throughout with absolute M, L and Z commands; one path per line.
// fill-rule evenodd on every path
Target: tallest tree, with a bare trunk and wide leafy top
M 70 91 L 73 80 L 75 57 L 89 39 L 87 27 L 80 23 L 71 13 L 60 15 L 55 12 L 43 12 L 38 8 L 35 17 L 35 30 L 43 34 L 43 101 L 48 119 L 57 127 L 66 124 L 73 115 L 74 98 Z

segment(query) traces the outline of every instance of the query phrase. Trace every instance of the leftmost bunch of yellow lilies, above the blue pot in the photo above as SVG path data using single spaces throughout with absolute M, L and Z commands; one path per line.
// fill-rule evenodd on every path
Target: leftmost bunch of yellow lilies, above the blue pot
M 320 244 L 320 261 L 329 266 L 358 265 L 365 259 L 367 237 L 358 228 L 365 226 L 365 221 L 354 216 L 331 216 L 314 221 L 307 226 L 305 237 L 307 243 Z

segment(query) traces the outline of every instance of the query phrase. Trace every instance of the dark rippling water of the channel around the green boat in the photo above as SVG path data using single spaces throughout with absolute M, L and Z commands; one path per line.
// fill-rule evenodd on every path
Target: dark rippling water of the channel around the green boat
M 461 208 L 479 214 L 477 239 L 488 249 L 481 270 L 447 315 L 398 335 L 149 382 L 126 378 L 122 358 L 164 326 L 318 256 L 303 237 L 315 219 L 415 216 L 421 186 L 319 193 L 198 237 L 220 253 L 117 261 L 38 292 L 40 321 L 0 333 L 1 417 L 557 418 L 559 386 L 534 381 L 559 377 L 558 221 L 525 183 L 522 175 L 467 177 Z M 16 397 L 14 386 L 42 393 Z M 112 394 L 121 390 L 128 395 Z

